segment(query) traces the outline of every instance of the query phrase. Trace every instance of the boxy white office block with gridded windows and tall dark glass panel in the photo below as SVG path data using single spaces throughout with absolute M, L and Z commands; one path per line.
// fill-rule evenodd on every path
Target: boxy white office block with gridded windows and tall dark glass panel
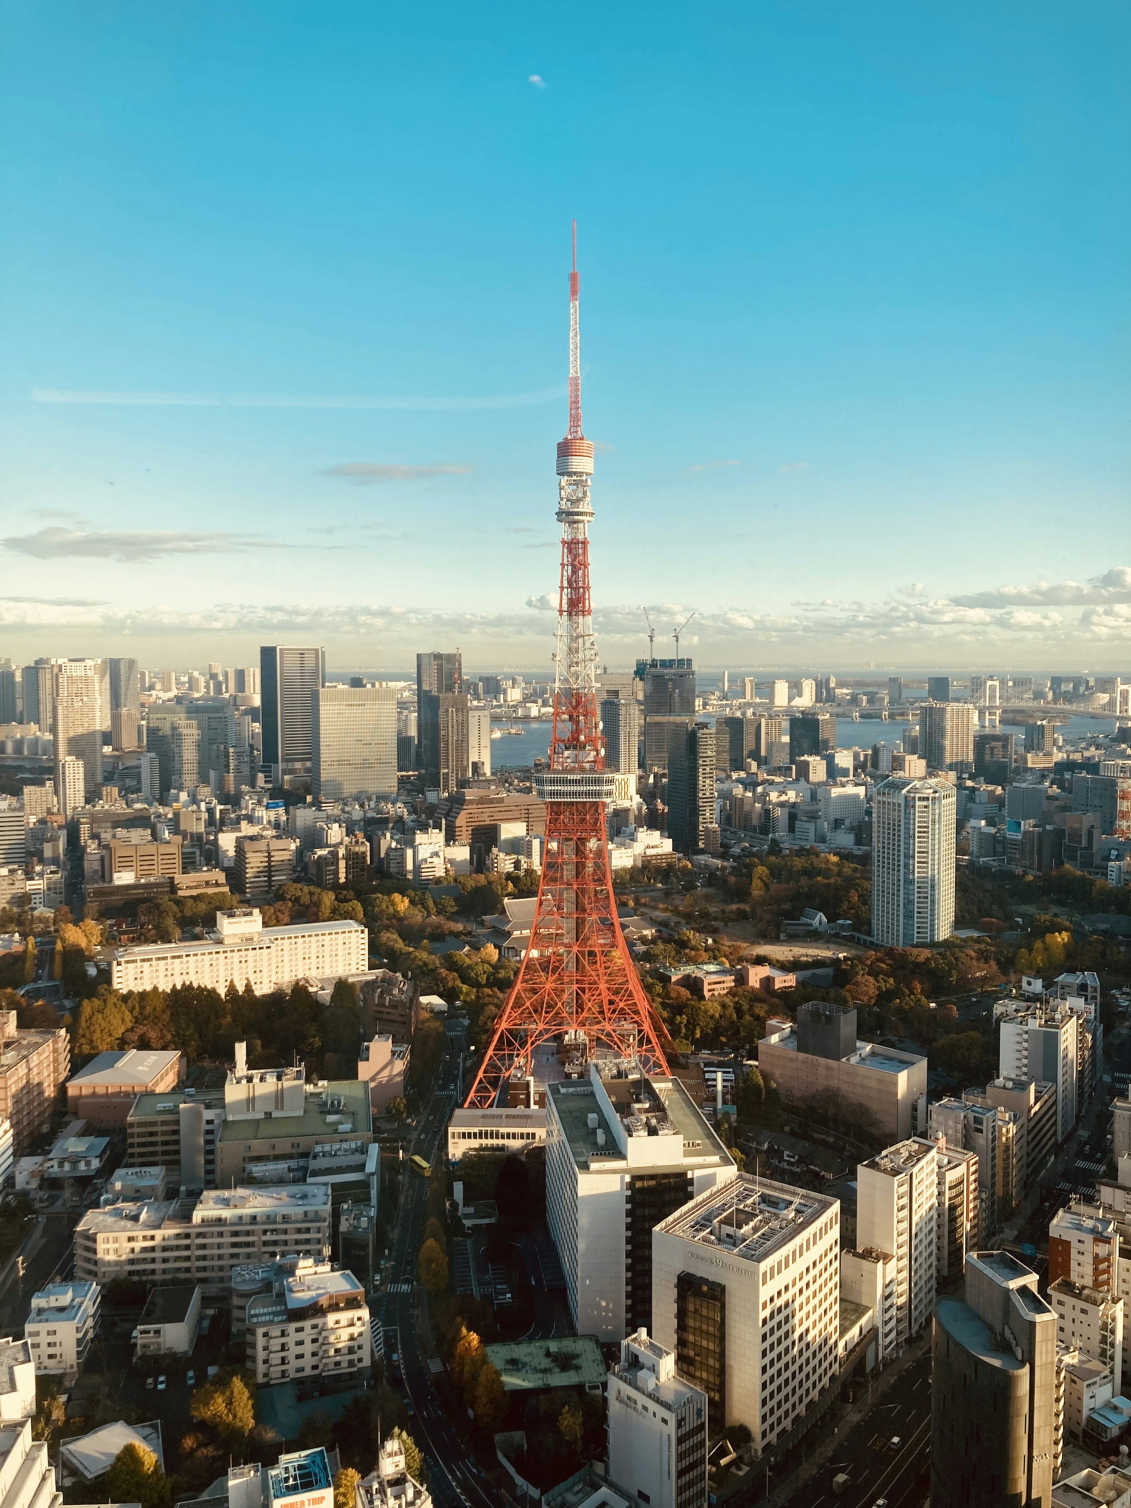
M 651 1235 L 651 1333 L 765 1451 L 837 1372 L 840 1200 L 740 1173 Z

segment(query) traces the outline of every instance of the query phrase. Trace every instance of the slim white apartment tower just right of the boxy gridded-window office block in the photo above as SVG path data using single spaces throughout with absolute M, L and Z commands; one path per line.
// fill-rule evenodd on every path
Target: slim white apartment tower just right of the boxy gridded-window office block
M 900 1142 L 857 1167 L 857 1246 L 896 1258 L 896 1338 L 909 1339 L 935 1307 L 938 1149 Z

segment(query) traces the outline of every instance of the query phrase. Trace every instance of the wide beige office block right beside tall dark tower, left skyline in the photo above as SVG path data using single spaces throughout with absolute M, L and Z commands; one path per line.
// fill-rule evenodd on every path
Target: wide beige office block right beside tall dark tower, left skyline
M 311 694 L 315 796 L 397 793 L 397 692 L 392 686 L 321 686 Z

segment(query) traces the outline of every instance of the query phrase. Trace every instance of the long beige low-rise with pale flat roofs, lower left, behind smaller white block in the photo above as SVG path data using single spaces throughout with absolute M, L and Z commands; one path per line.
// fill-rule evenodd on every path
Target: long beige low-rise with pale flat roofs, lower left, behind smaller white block
M 208 1188 L 89 1209 L 75 1228 L 75 1276 L 103 1288 L 115 1277 L 192 1282 L 226 1297 L 240 1264 L 329 1256 L 330 1211 L 329 1184 Z

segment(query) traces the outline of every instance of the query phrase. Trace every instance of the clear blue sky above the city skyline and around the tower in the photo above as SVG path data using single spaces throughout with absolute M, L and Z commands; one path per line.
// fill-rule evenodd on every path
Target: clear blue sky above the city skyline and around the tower
M 3 0 L 0 654 L 1126 668 L 1131 12 Z

